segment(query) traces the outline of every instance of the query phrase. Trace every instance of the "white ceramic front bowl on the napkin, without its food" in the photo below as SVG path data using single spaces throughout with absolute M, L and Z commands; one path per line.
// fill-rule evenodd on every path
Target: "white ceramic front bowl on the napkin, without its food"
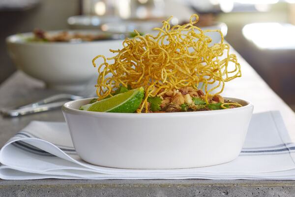
M 202 167 L 240 153 L 253 105 L 176 113 L 81 111 L 90 99 L 67 102 L 62 111 L 78 155 L 91 164 L 131 169 Z

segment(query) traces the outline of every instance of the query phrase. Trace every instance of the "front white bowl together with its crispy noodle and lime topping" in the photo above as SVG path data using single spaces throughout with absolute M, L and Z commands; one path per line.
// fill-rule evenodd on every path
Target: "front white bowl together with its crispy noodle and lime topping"
M 62 111 L 78 155 L 90 164 L 130 169 L 222 164 L 240 153 L 251 102 L 221 96 L 241 66 L 219 30 L 189 23 L 126 38 L 113 57 L 96 56 L 96 98 Z M 207 33 L 220 33 L 212 44 Z M 216 92 L 216 90 L 218 90 Z

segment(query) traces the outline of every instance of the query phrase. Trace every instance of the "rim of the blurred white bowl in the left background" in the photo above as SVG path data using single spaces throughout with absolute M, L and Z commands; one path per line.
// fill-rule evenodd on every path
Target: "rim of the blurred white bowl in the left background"
M 46 31 L 49 33 L 59 33 L 59 32 L 98 32 L 102 34 L 107 34 L 107 32 L 103 32 L 100 30 L 50 30 Z M 112 34 L 112 33 L 110 33 Z M 9 35 L 5 38 L 5 41 L 7 44 L 16 44 L 16 45 L 35 45 L 35 46 L 41 46 L 41 45 L 85 45 L 85 44 L 97 44 L 100 42 L 116 42 L 120 41 L 122 42 L 124 39 L 106 39 L 106 40 L 94 40 L 94 41 L 87 41 L 87 42 L 27 42 L 27 41 L 20 41 L 21 36 L 28 36 L 33 35 L 33 32 L 24 32 L 24 33 L 15 33 L 12 35 Z

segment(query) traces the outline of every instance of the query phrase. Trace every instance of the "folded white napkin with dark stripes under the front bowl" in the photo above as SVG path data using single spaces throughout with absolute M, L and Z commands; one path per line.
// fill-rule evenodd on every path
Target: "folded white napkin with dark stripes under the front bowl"
M 1 179 L 292 179 L 295 143 L 279 112 L 254 114 L 239 157 L 189 169 L 139 170 L 91 165 L 79 158 L 65 123 L 33 121 L 0 150 Z

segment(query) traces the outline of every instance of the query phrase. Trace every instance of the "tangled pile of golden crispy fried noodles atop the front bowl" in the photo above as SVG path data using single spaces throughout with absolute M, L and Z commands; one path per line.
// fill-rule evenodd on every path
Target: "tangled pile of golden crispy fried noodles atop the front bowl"
M 202 85 L 208 95 L 217 89 L 220 94 L 225 82 L 241 76 L 236 55 L 230 54 L 230 46 L 224 43 L 219 30 L 202 31 L 196 27 L 198 15 L 190 17 L 185 25 L 171 27 L 169 21 L 163 22 L 162 28 L 154 28 L 157 35 L 137 35 L 126 38 L 123 48 L 110 50 L 118 53 L 112 58 L 96 56 L 103 63 L 98 66 L 97 95 L 99 99 L 112 96 L 119 85 L 145 88 L 145 99 L 137 110 L 148 112 L 148 97 L 161 96 L 172 89 Z M 218 32 L 220 43 L 209 46 L 211 38 L 207 32 Z M 113 64 L 110 61 L 114 62 Z M 210 84 L 210 85 L 209 85 Z M 208 102 L 208 101 L 207 101 Z

